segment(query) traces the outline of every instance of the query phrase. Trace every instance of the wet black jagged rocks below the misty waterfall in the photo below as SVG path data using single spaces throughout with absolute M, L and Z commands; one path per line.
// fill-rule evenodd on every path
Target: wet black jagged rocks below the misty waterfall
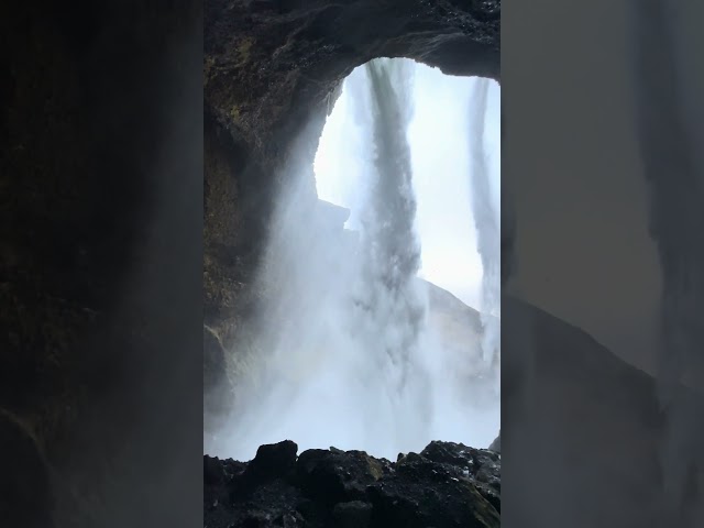
M 431 442 L 396 462 L 362 451 L 262 446 L 251 462 L 204 457 L 205 528 L 501 525 L 501 455 Z

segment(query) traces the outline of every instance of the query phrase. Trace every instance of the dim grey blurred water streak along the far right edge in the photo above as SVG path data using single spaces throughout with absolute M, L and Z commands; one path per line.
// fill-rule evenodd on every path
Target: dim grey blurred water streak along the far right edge
M 703 77 L 692 42 L 701 8 L 649 0 L 630 9 L 636 125 L 663 285 L 658 343 L 659 398 L 667 417 L 662 506 L 668 524 L 702 526 L 704 509 L 688 498 L 693 472 L 704 466 L 704 250 L 692 239 L 704 227 Z

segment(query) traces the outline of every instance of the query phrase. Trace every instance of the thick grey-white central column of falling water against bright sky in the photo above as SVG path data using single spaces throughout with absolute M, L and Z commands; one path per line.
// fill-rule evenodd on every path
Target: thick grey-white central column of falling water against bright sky
M 374 162 L 367 170 L 358 306 L 366 323 L 375 327 L 370 332 L 373 339 L 364 345 L 376 349 L 380 366 L 391 367 L 388 375 L 397 377 L 393 385 L 403 392 L 426 312 L 416 282 L 420 244 L 414 226 L 416 197 L 406 138 L 413 69 L 407 63 L 377 61 L 366 65 L 366 73 Z

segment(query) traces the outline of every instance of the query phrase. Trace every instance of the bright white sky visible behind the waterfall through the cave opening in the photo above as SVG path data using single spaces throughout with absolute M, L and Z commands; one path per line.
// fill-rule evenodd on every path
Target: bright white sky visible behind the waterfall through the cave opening
M 408 141 L 418 207 L 416 229 L 422 248 L 420 275 L 479 308 L 482 264 L 471 208 L 468 148 L 474 82 L 473 78 L 446 76 L 439 69 L 418 64 Z M 345 84 L 328 118 L 315 170 L 318 197 L 352 209 L 354 217 L 355 199 L 361 191 L 360 158 L 369 151 L 370 142 L 354 122 L 350 91 Z M 499 87 L 492 82 L 485 144 L 497 196 L 499 105 Z M 353 218 L 350 223 L 354 223 Z

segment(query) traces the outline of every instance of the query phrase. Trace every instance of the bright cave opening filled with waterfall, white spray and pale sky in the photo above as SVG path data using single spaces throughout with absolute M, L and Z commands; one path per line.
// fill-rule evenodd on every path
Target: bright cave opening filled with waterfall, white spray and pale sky
M 431 440 L 494 440 L 498 364 L 483 338 L 447 345 L 420 279 L 491 306 L 498 324 L 498 267 L 483 279 L 482 264 L 501 255 L 480 253 L 491 237 L 498 249 L 499 233 L 496 223 L 485 233 L 472 207 L 485 198 L 498 211 L 497 156 L 483 152 L 477 124 L 498 123 L 498 112 L 485 117 L 485 97 L 474 118 L 475 84 L 405 59 L 374 61 L 344 81 L 316 160 L 320 199 L 305 169 L 279 196 L 257 276 L 268 300 L 230 356 L 237 410 L 213 454 L 250 460 L 262 443 L 292 439 L 395 460 Z M 479 178 L 480 197 L 476 170 L 492 173 Z

